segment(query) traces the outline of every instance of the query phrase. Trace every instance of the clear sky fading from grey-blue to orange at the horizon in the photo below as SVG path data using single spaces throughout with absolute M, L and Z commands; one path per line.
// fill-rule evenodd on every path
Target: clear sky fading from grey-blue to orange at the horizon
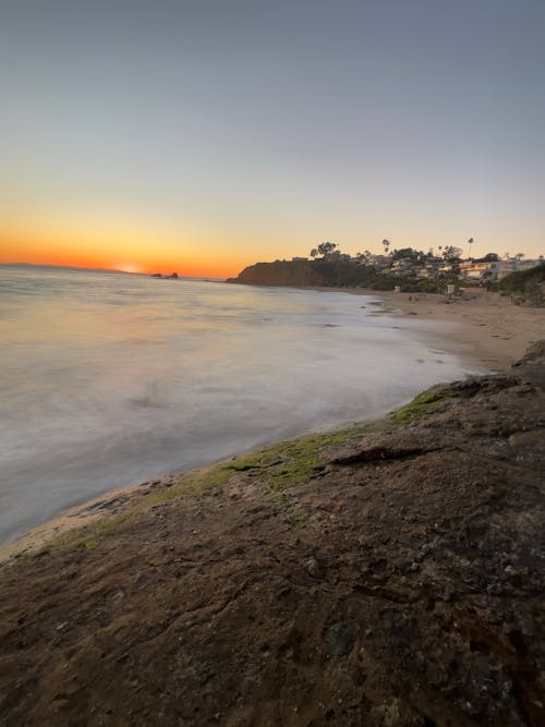
M 545 253 L 543 0 L 2 0 L 0 263 Z

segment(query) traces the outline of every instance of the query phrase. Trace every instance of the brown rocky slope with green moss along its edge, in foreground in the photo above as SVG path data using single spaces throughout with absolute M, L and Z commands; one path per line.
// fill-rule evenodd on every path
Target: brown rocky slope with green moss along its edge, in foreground
M 544 471 L 542 342 L 149 485 L 0 573 L 0 724 L 543 725 Z

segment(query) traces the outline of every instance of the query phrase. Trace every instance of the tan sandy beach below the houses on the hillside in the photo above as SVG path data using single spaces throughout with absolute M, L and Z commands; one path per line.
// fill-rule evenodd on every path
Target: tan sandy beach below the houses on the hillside
M 330 291 L 331 288 L 319 288 Z M 488 369 L 508 371 L 513 360 L 545 335 L 545 308 L 514 305 L 508 298 L 472 289 L 451 298 L 432 293 L 393 293 L 362 288 L 335 289 L 359 295 L 374 295 L 389 314 L 419 316 L 435 324 L 448 324 L 436 331 L 441 346 Z

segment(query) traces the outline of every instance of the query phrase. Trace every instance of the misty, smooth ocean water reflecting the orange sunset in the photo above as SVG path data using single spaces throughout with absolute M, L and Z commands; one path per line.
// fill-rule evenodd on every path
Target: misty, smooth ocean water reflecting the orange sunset
M 370 296 L 0 266 L 0 542 L 472 373 Z

